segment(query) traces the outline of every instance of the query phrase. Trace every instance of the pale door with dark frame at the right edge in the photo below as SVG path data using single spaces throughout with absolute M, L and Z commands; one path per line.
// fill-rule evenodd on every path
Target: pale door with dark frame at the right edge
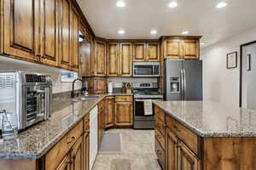
M 249 42 L 241 45 L 240 80 L 240 106 L 245 109 L 256 111 L 256 42 Z

